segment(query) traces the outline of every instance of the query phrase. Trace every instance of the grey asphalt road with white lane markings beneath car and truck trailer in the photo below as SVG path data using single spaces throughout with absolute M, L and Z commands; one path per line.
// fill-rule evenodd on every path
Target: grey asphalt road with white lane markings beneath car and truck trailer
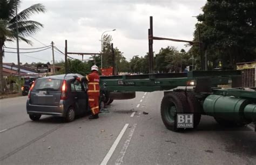
M 167 130 L 163 92 L 114 101 L 97 120 L 31 121 L 26 97 L 0 101 L 0 164 L 255 164 L 256 133 L 203 116 L 195 131 Z M 149 114 L 143 114 L 143 112 Z

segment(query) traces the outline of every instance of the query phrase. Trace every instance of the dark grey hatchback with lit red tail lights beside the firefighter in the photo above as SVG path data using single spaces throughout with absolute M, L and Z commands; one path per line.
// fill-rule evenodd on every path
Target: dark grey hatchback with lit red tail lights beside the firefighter
M 75 82 L 73 76 L 65 74 L 38 78 L 30 88 L 26 111 L 31 120 L 39 120 L 42 114 L 64 117 L 73 121 L 77 114 L 90 111 L 86 85 Z

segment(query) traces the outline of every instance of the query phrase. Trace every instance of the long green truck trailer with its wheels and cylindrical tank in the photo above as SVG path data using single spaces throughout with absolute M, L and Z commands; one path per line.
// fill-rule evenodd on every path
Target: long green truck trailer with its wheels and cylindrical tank
M 201 115 L 212 116 L 221 125 L 254 123 L 256 88 L 239 88 L 240 82 L 238 70 L 100 77 L 100 87 L 110 99 L 134 98 L 134 91 L 164 91 L 159 108 L 164 125 L 171 131 L 184 130 L 177 125 L 178 114 L 193 114 L 193 128 Z M 226 84 L 231 88 L 219 87 Z

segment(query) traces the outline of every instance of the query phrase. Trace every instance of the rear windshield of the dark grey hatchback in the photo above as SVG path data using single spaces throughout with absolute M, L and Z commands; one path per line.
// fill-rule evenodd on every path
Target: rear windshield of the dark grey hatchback
M 35 87 L 33 90 L 60 90 L 60 85 L 62 80 L 56 79 L 38 79 L 36 81 Z

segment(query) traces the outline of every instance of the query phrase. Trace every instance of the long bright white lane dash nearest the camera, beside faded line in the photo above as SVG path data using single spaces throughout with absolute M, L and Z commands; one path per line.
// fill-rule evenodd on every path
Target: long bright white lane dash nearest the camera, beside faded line
M 119 133 L 117 139 L 114 141 L 113 145 L 111 146 L 109 152 L 107 152 L 106 156 L 104 157 L 102 163 L 100 163 L 100 165 L 105 165 L 107 164 L 107 162 L 109 162 L 110 157 L 112 156 L 112 154 L 114 153 L 114 150 L 117 148 L 117 145 L 119 143 L 119 141 L 121 140 L 121 138 L 123 137 L 126 128 L 128 127 L 128 123 L 126 123 L 122 129 L 122 131 Z

